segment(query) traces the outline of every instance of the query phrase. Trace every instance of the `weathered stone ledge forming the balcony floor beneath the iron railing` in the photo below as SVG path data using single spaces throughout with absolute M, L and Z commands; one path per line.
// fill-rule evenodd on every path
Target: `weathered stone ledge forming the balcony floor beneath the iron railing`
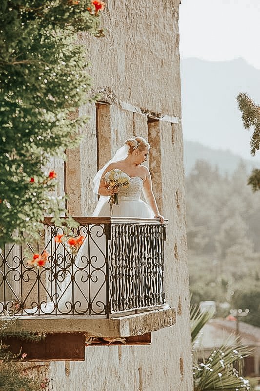
M 110 319 L 76 315 L 15 316 L 2 318 L 0 325 L 6 324 L 7 319 L 15 321 L 11 322 L 5 331 L 80 332 L 93 337 L 130 337 L 173 326 L 176 322 L 176 312 L 174 308 L 167 307 Z

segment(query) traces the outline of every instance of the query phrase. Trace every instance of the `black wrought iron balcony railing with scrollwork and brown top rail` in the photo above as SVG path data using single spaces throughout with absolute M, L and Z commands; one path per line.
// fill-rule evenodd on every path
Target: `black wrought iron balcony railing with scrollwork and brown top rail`
M 44 220 L 42 242 L 9 245 L 0 254 L 0 314 L 98 315 L 109 318 L 165 303 L 165 224 L 122 217 L 75 217 L 77 228 Z M 73 254 L 65 236 L 83 236 Z M 48 254 L 41 267 L 27 263 Z

